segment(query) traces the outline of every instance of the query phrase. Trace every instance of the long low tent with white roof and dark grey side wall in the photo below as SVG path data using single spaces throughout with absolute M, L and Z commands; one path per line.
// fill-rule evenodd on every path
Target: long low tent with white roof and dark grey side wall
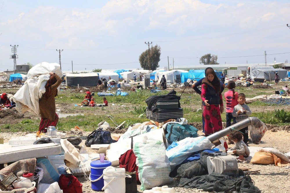
M 99 76 L 96 72 L 72 74 L 66 73 L 67 86 L 97 86 Z

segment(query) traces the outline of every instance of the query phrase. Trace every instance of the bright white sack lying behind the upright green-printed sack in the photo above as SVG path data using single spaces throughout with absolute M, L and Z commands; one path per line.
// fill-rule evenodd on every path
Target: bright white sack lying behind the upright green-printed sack
M 143 140 L 143 136 L 163 141 L 163 129 L 157 129 L 148 133 L 133 137 L 133 145 Z M 106 158 L 112 162 L 112 166 L 119 165 L 119 157 L 126 151 L 131 150 L 131 138 L 111 143 L 106 151 Z

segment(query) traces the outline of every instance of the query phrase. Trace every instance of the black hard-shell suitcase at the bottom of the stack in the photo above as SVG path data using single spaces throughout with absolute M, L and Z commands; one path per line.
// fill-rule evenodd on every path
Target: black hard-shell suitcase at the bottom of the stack
M 146 118 L 152 121 L 162 122 L 167 121 L 168 119 L 178 119 L 183 117 L 182 108 L 178 109 L 158 109 L 155 112 L 152 112 L 146 108 Z

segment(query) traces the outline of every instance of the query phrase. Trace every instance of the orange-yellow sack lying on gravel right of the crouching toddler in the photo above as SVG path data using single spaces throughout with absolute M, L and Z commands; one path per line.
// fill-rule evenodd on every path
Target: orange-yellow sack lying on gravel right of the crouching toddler
M 276 155 L 267 152 L 256 152 L 250 163 L 275 164 L 279 167 L 290 165 L 285 161 L 281 161 Z

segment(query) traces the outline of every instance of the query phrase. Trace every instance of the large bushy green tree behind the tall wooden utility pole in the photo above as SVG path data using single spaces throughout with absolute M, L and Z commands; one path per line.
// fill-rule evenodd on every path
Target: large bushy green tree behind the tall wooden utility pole
M 161 48 L 159 45 L 151 46 L 150 48 L 150 70 L 156 70 L 159 67 Z M 142 52 L 139 56 L 140 66 L 144 70 L 149 70 L 148 65 L 148 50 Z

